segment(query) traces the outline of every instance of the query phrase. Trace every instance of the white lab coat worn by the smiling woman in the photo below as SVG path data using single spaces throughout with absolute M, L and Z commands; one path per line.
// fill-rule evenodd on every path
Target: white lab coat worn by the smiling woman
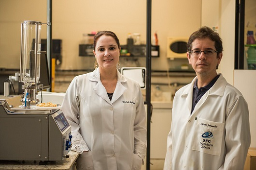
M 98 68 L 75 77 L 62 109 L 71 125 L 79 170 L 140 170 L 146 152 L 146 112 L 140 86 L 118 72 L 110 101 Z M 83 153 L 83 151 L 87 151 Z

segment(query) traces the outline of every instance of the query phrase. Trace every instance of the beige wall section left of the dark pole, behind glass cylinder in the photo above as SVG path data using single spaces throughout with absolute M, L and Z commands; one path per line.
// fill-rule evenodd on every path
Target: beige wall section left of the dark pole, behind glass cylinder
M 0 68 L 20 68 L 21 23 L 46 22 L 46 0 L 0 0 Z M 42 26 L 46 37 L 46 26 Z

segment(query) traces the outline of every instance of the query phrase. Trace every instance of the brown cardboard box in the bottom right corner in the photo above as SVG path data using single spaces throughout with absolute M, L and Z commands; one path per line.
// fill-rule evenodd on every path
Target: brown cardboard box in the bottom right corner
M 256 170 L 256 148 L 250 147 L 247 153 L 244 170 Z

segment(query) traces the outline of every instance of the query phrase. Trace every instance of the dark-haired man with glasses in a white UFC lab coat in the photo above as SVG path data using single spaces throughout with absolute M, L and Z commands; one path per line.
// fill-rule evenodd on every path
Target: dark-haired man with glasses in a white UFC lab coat
M 249 111 L 240 91 L 216 71 L 222 39 L 202 27 L 187 48 L 196 77 L 175 94 L 164 170 L 243 170 L 251 142 Z

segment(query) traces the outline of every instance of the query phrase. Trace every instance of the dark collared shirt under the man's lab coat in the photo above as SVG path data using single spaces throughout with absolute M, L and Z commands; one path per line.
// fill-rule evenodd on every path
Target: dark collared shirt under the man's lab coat
M 199 100 L 206 93 L 206 91 L 208 91 L 215 84 L 219 77 L 220 74 L 217 75 L 208 85 L 205 85 L 204 87 L 201 87 L 199 89 L 197 87 L 197 79 L 195 80 L 193 88 L 193 101 L 191 113 L 193 112 L 195 105 L 199 102 Z

